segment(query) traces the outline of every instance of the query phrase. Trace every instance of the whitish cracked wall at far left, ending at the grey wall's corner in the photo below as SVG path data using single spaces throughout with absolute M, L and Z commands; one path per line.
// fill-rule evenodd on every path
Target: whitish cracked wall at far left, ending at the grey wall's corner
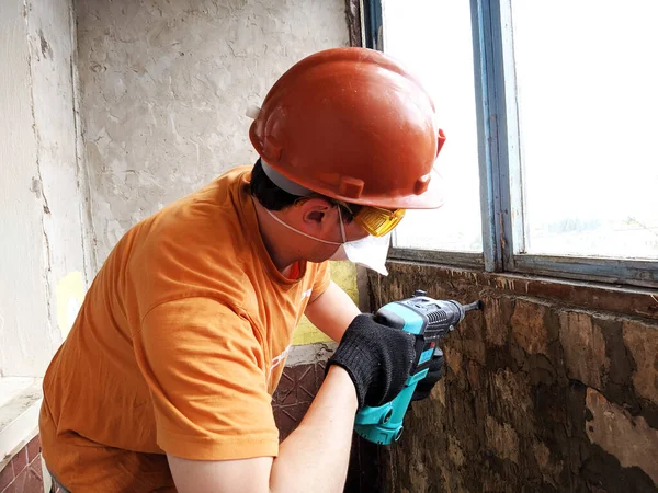
M 3 377 L 43 375 L 86 280 L 71 26 L 67 0 L 0 2 Z

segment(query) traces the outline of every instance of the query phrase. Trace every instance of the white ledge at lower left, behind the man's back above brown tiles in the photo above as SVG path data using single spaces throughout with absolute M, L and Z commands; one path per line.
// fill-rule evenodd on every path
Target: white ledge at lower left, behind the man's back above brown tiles
M 42 379 L 0 378 L 0 471 L 38 433 Z

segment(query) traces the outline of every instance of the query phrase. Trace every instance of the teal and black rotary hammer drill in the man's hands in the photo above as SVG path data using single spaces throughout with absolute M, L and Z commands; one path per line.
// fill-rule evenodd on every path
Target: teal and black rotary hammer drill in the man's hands
M 426 291 L 417 290 L 412 298 L 385 305 L 375 314 L 377 323 L 416 336 L 416 360 L 405 388 L 393 401 L 377 408 L 365 406 L 356 413 L 354 431 L 368 442 L 389 445 L 400 438 L 402 420 L 416 386 L 428 375 L 432 357 L 442 354 L 439 341 L 464 320 L 467 311 L 483 308 L 481 301 L 461 305 L 452 300 L 432 299 L 426 295 Z

